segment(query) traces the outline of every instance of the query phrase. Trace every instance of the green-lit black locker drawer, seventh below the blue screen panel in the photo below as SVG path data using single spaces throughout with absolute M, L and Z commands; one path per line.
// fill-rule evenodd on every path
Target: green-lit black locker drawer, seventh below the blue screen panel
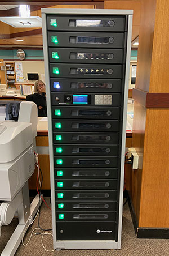
M 57 190 L 117 190 L 117 180 L 55 180 Z M 107 199 L 108 200 L 108 199 Z

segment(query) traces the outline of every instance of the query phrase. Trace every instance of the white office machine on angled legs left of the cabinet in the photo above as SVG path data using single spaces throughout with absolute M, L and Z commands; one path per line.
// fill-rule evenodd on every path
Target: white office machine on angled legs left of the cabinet
M 0 201 L 4 201 L 0 205 L 0 226 L 10 224 L 16 211 L 19 218 L 19 225 L 1 255 L 12 256 L 38 210 L 38 197 L 30 205 L 28 189 L 35 163 L 37 105 L 21 101 L 0 103 L 1 106 L 6 109 L 6 120 L 0 121 Z

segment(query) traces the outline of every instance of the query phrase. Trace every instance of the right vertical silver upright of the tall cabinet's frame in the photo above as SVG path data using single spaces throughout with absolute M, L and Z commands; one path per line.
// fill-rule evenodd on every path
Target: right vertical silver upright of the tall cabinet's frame
M 129 84 L 129 75 L 130 75 L 131 35 L 132 35 L 132 15 L 128 15 L 126 74 L 125 74 L 125 87 L 124 87 L 123 130 L 122 130 L 122 151 L 121 151 L 122 152 L 121 153 L 121 183 L 120 183 L 120 195 L 119 195 L 118 249 L 121 248 L 121 233 L 122 233 L 124 160 L 125 160 L 125 149 L 126 149 L 127 101 L 128 101 L 128 84 Z

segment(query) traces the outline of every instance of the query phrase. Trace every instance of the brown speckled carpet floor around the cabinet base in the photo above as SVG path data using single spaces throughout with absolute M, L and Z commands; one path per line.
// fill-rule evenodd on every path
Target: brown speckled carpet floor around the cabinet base
M 47 202 L 49 202 L 47 198 Z M 2 227 L 2 236 L 0 237 L 0 253 L 10 238 L 12 232 L 17 225 L 17 219 L 6 227 Z M 42 204 L 41 226 L 43 228 L 51 228 L 51 212 Z M 29 228 L 25 235 L 25 242 L 28 241 L 30 232 L 38 227 L 37 220 L 34 221 L 32 227 Z M 48 250 L 52 249 L 52 237 L 44 237 L 44 245 Z M 122 248 L 121 250 L 61 250 L 48 253 L 42 248 L 41 235 L 33 235 L 28 246 L 22 244 L 16 251 L 16 256 L 169 256 L 169 240 L 161 239 L 136 239 L 134 228 L 132 225 L 130 210 L 128 204 L 123 208 L 123 226 L 122 226 Z

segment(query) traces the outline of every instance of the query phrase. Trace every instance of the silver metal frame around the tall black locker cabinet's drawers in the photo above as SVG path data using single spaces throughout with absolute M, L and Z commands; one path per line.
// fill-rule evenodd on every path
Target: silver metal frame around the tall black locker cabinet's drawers
M 121 248 L 121 231 L 122 231 L 122 207 L 123 207 L 123 180 L 124 180 L 124 155 L 126 143 L 126 122 L 127 122 L 127 98 L 128 98 L 128 81 L 130 70 L 130 52 L 131 52 L 131 31 L 132 31 L 132 10 L 92 10 L 92 9 L 43 9 L 42 8 L 42 31 L 43 31 L 43 51 L 46 70 L 46 84 L 50 84 L 48 51 L 47 51 L 47 26 L 46 14 L 95 14 L 95 15 L 128 15 L 128 37 L 127 37 L 127 57 L 126 57 L 126 81 L 124 92 L 124 109 L 123 109 L 123 131 L 122 131 L 122 161 L 121 161 L 121 189 L 119 197 L 119 228 L 118 242 L 114 240 L 82 240 L 82 241 L 57 241 L 56 238 L 56 216 L 55 216 L 55 186 L 54 172 L 50 172 L 51 178 L 51 198 L 52 198 L 52 227 L 54 234 L 54 248 L 63 249 L 120 249 Z M 47 91 L 47 112 L 48 112 L 48 134 L 49 134 L 49 152 L 50 152 L 50 169 L 54 170 L 54 155 L 52 143 L 52 117 L 51 117 L 51 99 L 50 87 L 46 86 Z

